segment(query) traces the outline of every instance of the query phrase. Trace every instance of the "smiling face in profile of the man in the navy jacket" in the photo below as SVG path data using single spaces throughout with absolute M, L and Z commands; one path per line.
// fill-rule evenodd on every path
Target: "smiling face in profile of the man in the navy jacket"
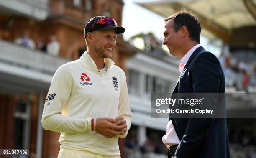
M 164 27 L 163 44 L 167 46 L 170 54 L 178 57 L 181 56 L 182 32 L 180 29 L 177 32 L 174 31 L 172 19 L 168 20 Z

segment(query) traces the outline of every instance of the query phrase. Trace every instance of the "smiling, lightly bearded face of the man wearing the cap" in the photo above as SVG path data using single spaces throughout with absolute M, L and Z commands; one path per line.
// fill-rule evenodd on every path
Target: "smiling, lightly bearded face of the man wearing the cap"
M 115 29 L 95 31 L 92 36 L 95 53 L 100 58 L 110 58 L 116 46 Z

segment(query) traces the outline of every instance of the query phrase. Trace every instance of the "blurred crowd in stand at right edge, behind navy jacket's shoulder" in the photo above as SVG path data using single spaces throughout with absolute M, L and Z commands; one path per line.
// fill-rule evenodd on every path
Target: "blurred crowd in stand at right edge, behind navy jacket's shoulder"
M 223 66 L 227 86 L 234 86 L 245 92 L 256 92 L 256 59 L 238 61 L 233 54 L 218 57 Z

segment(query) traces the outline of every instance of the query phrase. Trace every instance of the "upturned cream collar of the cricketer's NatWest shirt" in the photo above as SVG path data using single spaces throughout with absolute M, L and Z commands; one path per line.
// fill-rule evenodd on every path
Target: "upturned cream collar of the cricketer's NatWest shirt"
M 83 64 L 85 64 L 87 67 L 89 67 L 90 69 L 93 70 L 98 70 L 94 60 L 92 59 L 92 57 L 87 53 L 87 51 L 84 52 L 84 54 L 82 54 L 82 56 L 80 57 L 80 61 L 82 61 Z M 111 68 L 111 66 L 113 66 L 115 64 L 115 62 L 113 60 L 111 60 L 110 58 L 105 58 L 104 59 L 105 64 L 107 65 L 108 69 Z

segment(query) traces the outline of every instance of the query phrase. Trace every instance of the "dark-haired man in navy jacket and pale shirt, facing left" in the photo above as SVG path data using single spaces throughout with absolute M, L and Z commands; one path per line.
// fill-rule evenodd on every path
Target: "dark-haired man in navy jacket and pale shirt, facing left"
M 225 77 L 216 56 L 200 46 L 201 26 L 189 11 L 165 19 L 163 44 L 181 58 L 173 93 L 225 93 Z M 220 109 L 225 111 L 225 97 Z M 163 143 L 168 158 L 230 158 L 226 118 L 169 118 Z

